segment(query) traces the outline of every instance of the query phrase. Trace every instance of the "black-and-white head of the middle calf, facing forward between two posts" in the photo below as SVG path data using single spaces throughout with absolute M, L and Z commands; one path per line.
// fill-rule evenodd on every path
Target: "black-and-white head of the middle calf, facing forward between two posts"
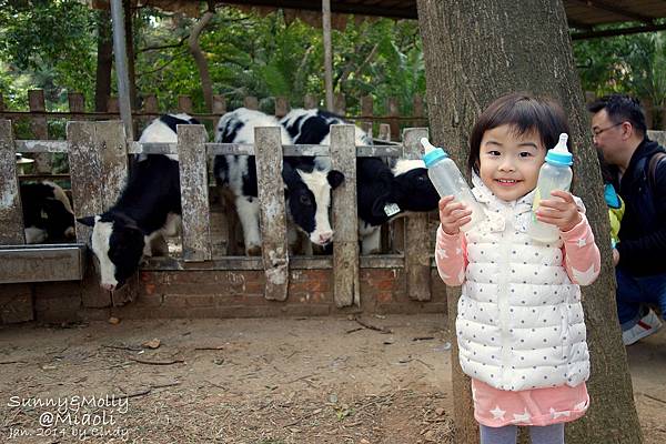
M 294 223 L 316 245 L 326 245 L 333 240 L 329 209 L 331 190 L 344 181 L 337 170 L 300 170 L 284 162 L 282 179 L 289 211 Z

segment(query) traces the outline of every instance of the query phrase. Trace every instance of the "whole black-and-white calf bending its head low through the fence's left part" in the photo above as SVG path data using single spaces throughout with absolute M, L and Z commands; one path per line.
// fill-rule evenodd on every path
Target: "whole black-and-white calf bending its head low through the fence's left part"
M 176 141 L 175 125 L 198 123 L 188 114 L 162 115 L 139 141 Z M 102 214 L 79 219 L 93 226 L 92 251 L 100 265 L 101 286 L 120 289 L 143 258 L 165 254 L 163 236 L 175 235 L 181 221 L 180 172 L 168 155 L 142 155 L 133 165 L 118 202 Z

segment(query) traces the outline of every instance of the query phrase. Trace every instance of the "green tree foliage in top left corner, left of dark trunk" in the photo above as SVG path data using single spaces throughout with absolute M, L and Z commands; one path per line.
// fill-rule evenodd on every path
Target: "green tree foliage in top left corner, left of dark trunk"
M 44 90 L 49 109 L 67 103 L 67 90 L 88 92 L 95 74 L 95 13 L 75 0 L 0 0 L 0 78 L 9 103 L 26 108 L 27 90 Z M 7 84 L 10 83 L 10 84 Z M 18 103 L 17 103 L 18 104 Z

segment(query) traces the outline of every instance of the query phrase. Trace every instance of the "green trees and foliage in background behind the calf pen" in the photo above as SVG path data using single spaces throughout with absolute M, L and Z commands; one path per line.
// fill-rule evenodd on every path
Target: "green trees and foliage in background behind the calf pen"
M 186 39 L 198 19 L 152 8 L 133 10 L 133 52 L 138 102 L 158 95 L 162 110 L 174 109 L 179 94 L 204 111 L 201 79 Z M 100 30 L 108 14 L 79 0 L 0 0 L 0 91 L 6 108 L 26 110 L 27 90 L 43 89 L 50 110 L 67 109 L 67 92 L 85 94 L 94 109 Z M 653 127 L 666 105 L 666 32 L 598 38 L 574 42 L 585 91 L 626 92 L 655 107 Z M 323 99 L 321 30 L 281 12 L 268 16 L 218 7 L 200 46 L 208 61 L 213 93 L 228 108 L 245 95 L 272 110 L 272 98 L 303 102 L 307 93 Z M 411 114 L 414 94 L 425 95 L 423 51 L 416 21 L 349 20 L 333 32 L 334 89 L 347 98 L 347 113 L 360 112 L 359 99 L 374 98 L 376 113 L 396 97 L 401 113 Z M 114 78 L 110 84 L 115 90 Z M 323 103 L 322 103 L 323 104 Z

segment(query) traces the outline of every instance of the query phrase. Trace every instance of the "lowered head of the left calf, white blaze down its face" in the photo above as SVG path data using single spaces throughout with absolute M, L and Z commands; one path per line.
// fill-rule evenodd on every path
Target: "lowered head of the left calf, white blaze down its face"
M 102 289 L 120 289 L 139 270 L 145 244 L 143 232 L 122 214 L 98 214 L 78 221 L 92 226 L 92 252 Z

